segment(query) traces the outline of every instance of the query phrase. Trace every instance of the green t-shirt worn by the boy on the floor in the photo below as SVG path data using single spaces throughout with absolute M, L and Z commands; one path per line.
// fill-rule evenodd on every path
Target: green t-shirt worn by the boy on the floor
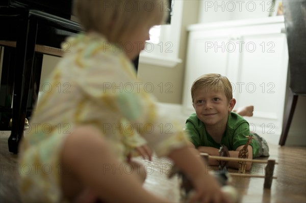
M 231 112 L 228 115 L 226 130 L 222 135 L 221 143 L 217 143 L 206 131 L 205 124 L 201 122 L 195 113 L 192 113 L 186 121 L 185 131 L 189 134 L 190 141 L 196 148 L 213 147 L 219 149 L 224 144 L 229 151 L 235 151 L 238 147 L 246 144 L 249 136 L 249 124 L 240 115 Z M 253 148 L 253 157 L 257 157 L 259 143 L 253 139 L 250 143 Z

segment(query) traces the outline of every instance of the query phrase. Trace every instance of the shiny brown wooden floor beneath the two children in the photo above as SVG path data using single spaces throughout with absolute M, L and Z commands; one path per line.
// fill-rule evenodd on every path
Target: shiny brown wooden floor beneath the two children
M 16 178 L 20 167 L 17 155 L 8 152 L 7 139 L 10 132 L 0 133 L 0 202 L 20 202 L 16 189 Z M 232 177 L 233 185 L 241 194 L 241 202 L 306 202 L 306 148 L 279 147 L 270 144 L 270 157 L 278 162 L 275 165 L 271 189 L 264 189 L 262 178 Z M 147 179 L 144 187 L 156 195 L 179 202 L 180 181 L 177 177 L 167 178 L 171 160 L 156 158 L 145 161 L 137 158 L 146 169 Z M 253 164 L 254 174 L 264 175 L 265 165 Z M 212 168 L 208 166 L 208 171 Z M 235 171 L 235 170 L 231 170 Z

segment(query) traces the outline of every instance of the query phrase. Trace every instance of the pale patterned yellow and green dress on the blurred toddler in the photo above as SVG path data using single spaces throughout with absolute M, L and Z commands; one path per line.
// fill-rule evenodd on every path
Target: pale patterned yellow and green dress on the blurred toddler
M 22 201 L 63 201 L 60 153 L 75 126 L 97 127 L 121 161 L 145 143 L 164 156 L 188 140 L 182 126 L 157 113 L 122 48 L 96 33 L 71 37 L 65 47 L 41 84 L 44 93 L 20 143 Z

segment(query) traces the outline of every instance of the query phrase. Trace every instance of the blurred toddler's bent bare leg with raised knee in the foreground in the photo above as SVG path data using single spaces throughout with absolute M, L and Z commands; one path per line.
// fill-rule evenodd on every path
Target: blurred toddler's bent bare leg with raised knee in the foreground
M 80 126 L 68 135 L 61 158 L 62 164 L 70 168 L 68 174 L 62 174 L 63 195 L 70 200 L 89 188 L 104 201 L 166 201 L 143 189 L 135 174 L 113 170 L 123 163 L 117 160 L 100 131 L 92 126 Z

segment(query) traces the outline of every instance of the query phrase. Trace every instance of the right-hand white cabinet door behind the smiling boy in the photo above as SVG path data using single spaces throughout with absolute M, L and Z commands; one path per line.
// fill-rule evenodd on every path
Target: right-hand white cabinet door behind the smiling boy
M 249 35 L 243 36 L 242 41 L 250 46 L 243 46 L 240 54 L 238 78 L 234 82 L 236 105 L 254 105 L 253 117 L 246 119 L 257 133 L 280 134 L 288 69 L 286 35 Z

